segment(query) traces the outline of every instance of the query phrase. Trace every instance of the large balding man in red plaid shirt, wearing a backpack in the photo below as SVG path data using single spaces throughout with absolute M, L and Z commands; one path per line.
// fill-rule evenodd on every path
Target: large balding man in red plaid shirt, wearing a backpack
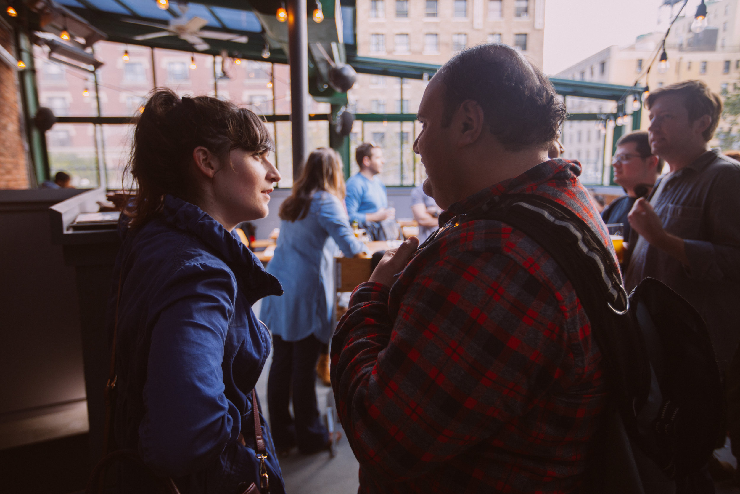
M 533 193 L 610 246 L 580 165 L 548 161 L 565 108 L 516 50 L 488 44 L 440 69 L 418 117 L 425 193 L 445 209 L 440 224 L 453 221 L 416 253 L 416 238 L 386 253 L 332 340 L 360 493 L 575 492 L 606 401 L 588 317 L 531 238 L 454 220 Z

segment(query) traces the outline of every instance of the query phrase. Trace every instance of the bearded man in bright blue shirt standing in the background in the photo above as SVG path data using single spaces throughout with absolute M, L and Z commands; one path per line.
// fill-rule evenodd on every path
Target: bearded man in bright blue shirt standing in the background
M 395 218 L 396 210 L 388 207 L 386 186 L 376 177 L 383 171 L 383 150 L 372 142 L 363 142 L 354 156 L 360 173 L 347 180 L 344 201 L 349 221 L 357 221 L 371 240 L 386 240 L 381 222 Z

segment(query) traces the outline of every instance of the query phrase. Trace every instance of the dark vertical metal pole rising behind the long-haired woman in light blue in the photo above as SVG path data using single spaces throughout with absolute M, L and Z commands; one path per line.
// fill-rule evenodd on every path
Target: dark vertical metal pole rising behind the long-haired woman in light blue
M 309 33 L 306 0 L 288 0 L 290 113 L 293 132 L 293 179 L 300 176 L 309 141 Z

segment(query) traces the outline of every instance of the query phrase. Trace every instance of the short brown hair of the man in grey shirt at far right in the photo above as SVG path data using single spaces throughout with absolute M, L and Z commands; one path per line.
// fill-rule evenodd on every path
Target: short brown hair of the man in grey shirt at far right
M 719 117 L 722 114 L 722 99 L 719 94 L 710 90 L 709 86 L 703 81 L 683 81 L 670 86 L 659 87 L 647 96 L 645 108 L 655 104 L 661 96 L 678 95 L 684 100 L 684 107 L 689 113 L 689 121 L 694 122 L 704 115 L 710 116 L 712 121 L 706 130 L 702 133 L 704 141 L 710 141 L 714 136 L 714 131 L 719 125 Z

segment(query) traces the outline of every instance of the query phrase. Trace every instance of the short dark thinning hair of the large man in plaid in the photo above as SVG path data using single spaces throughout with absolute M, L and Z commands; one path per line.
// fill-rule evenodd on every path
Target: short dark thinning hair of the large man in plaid
M 485 124 L 506 150 L 547 144 L 558 136 L 565 105 L 550 79 L 505 44 L 463 50 L 434 76 L 445 84 L 447 127 L 463 101 L 476 101 Z

